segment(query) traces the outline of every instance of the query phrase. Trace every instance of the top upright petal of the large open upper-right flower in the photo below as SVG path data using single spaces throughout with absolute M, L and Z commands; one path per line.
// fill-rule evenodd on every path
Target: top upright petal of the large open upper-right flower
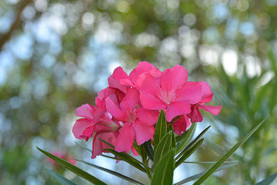
M 174 92 L 182 87 L 188 80 L 188 71 L 180 65 L 167 69 L 161 76 L 161 89 L 163 91 Z

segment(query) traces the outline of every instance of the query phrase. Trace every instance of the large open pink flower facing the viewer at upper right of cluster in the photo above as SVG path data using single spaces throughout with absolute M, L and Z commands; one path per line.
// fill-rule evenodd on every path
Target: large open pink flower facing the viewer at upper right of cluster
M 187 82 L 188 72 L 177 65 L 163 71 L 161 78 L 154 78 L 150 73 L 139 77 L 137 87 L 141 93 L 141 103 L 145 109 L 166 109 L 167 121 L 189 114 L 190 104 L 199 103 L 202 86 L 199 82 Z

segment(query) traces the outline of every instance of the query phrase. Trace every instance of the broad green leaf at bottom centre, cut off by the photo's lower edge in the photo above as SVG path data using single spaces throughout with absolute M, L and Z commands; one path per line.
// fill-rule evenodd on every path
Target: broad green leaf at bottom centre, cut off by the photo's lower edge
M 168 185 L 173 182 L 173 170 L 174 170 L 174 156 L 175 151 L 170 150 L 157 164 L 157 168 L 154 168 L 153 177 L 151 180 L 152 185 Z

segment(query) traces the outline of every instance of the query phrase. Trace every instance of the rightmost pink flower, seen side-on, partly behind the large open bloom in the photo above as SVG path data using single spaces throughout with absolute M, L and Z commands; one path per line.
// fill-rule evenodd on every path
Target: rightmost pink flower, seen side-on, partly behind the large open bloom
M 202 99 L 199 103 L 196 103 L 195 105 L 191 106 L 192 112 L 188 114 L 188 117 L 190 117 L 190 121 L 193 122 L 202 122 L 203 116 L 199 111 L 200 109 L 204 109 L 206 112 L 210 112 L 211 114 L 217 116 L 217 114 L 220 113 L 221 105 L 218 107 L 215 107 L 213 105 L 205 105 L 205 103 L 211 102 L 213 99 L 213 92 L 211 91 L 211 87 L 208 85 L 207 82 L 200 82 L 202 85 Z

